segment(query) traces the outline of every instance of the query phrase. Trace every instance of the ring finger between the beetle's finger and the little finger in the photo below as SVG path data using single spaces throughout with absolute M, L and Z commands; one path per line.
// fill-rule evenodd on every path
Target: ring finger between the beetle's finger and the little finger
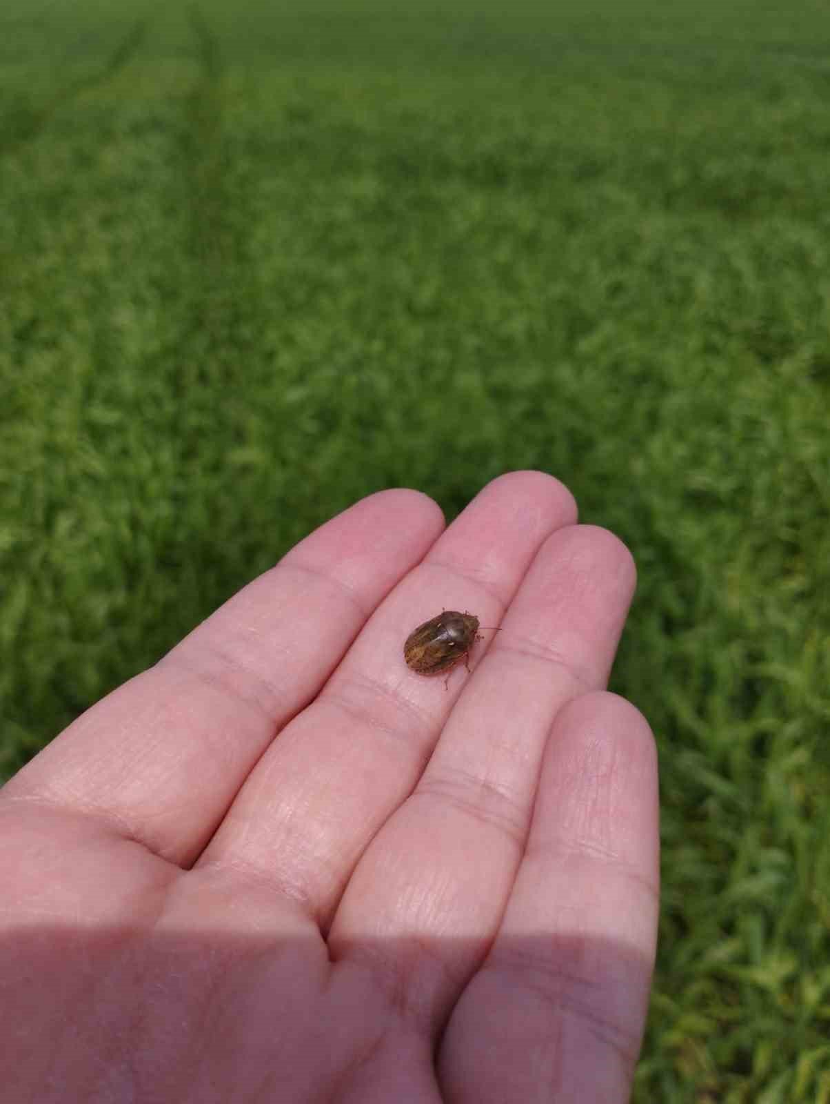
M 417 969 L 417 1011 L 434 1030 L 497 931 L 553 720 L 605 684 L 632 590 L 631 558 L 605 530 L 547 539 L 415 792 L 349 884 L 330 945 L 371 958 L 379 932 L 390 947 L 411 936 L 423 962 L 403 968 Z

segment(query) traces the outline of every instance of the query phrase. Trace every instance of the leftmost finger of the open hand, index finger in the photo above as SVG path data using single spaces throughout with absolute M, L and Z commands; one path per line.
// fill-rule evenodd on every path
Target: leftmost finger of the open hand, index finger
M 441 526 L 415 491 L 363 499 L 78 718 L 3 797 L 92 814 L 188 864 Z

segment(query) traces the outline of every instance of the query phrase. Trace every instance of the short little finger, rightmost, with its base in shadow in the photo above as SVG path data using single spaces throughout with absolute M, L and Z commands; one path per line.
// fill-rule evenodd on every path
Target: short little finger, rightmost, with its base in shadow
M 448 1098 L 628 1100 L 655 958 L 658 850 L 646 721 L 613 694 L 577 699 L 551 734 L 498 936 L 444 1037 Z

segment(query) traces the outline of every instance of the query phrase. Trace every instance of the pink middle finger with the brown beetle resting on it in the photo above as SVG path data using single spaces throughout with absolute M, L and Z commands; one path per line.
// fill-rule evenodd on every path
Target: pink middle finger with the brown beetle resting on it
M 461 670 L 445 690 L 443 679 L 409 671 L 408 629 L 441 606 L 499 616 L 540 543 L 574 514 L 565 488 L 540 473 L 486 487 L 269 747 L 200 862 L 275 880 L 326 927 L 364 848 L 412 792 L 467 677 Z

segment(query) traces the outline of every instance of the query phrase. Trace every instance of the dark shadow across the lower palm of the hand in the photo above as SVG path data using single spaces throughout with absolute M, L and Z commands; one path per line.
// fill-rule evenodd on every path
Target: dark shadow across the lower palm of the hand
M 233 916 L 222 917 L 233 921 Z M 502 941 L 439 1017 L 447 947 L 36 922 L 0 942 L 0 1096 L 74 1102 L 626 1101 L 651 964 L 590 937 Z M 460 952 L 464 949 L 464 953 Z M 459 962 L 468 962 L 470 947 Z M 479 954 L 479 958 L 481 955 Z

